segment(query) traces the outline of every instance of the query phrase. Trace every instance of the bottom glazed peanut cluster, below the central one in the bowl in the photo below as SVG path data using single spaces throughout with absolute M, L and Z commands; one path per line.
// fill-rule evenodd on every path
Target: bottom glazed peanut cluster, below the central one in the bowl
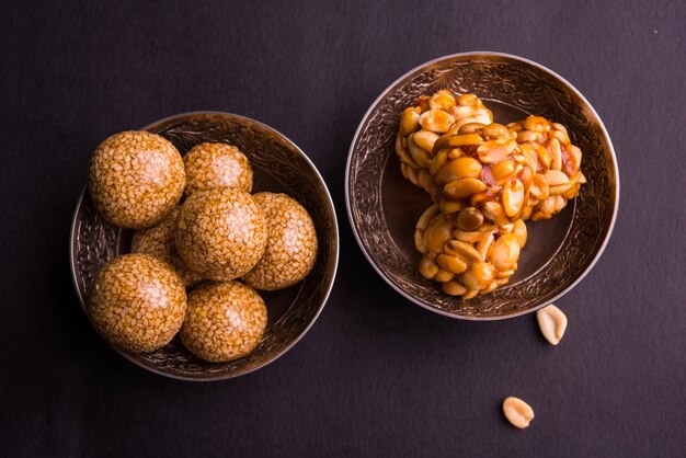
M 424 211 L 414 231 L 416 249 L 423 254 L 420 274 L 442 283 L 444 293 L 462 299 L 506 284 L 517 270 L 526 240 L 522 219 L 495 226 L 477 218 L 460 225 L 438 205 Z

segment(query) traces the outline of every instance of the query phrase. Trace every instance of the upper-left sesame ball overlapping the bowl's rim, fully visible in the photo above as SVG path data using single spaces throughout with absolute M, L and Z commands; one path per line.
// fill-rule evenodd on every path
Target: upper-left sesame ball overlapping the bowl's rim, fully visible
M 185 176 L 170 141 L 148 131 L 123 131 L 95 149 L 88 186 L 105 219 L 138 229 L 164 218 L 183 195 Z

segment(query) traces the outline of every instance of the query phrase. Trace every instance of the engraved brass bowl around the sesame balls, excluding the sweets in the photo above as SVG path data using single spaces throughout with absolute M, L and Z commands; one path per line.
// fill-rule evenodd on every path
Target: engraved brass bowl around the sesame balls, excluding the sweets
M 175 337 L 145 354 L 118 351 L 153 373 L 186 380 L 219 380 L 259 369 L 293 347 L 312 325 L 331 293 L 339 261 L 339 232 L 331 195 L 307 156 L 278 131 L 255 121 L 225 113 L 187 113 L 144 127 L 170 140 L 185 153 L 203 141 L 239 147 L 254 173 L 253 192 L 283 192 L 307 208 L 319 240 L 312 272 L 300 283 L 278 291 L 261 291 L 268 310 L 264 337 L 248 356 L 229 363 L 206 363 Z M 79 197 L 71 227 L 71 273 L 81 307 L 98 271 L 130 248 L 133 231 L 107 224 L 95 210 L 87 190 Z

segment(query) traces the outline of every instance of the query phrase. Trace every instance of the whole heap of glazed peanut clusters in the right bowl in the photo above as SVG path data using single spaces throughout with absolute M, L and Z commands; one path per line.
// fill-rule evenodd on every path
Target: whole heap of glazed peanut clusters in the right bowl
M 493 123 L 473 94 L 438 91 L 403 111 L 396 137 L 402 174 L 436 203 L 420 218 L 420 272 L 469 299 L 507 283 L 526 219 L 547 219 L 586 182 L 567 128 L 540 116 Z

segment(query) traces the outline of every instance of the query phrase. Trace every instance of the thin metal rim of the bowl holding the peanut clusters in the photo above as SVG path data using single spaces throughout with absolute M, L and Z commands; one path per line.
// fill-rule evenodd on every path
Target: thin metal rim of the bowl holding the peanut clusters
M 355 145 L 357 144 L 357 138 L 359 137 L 359 134 L 362 133 L 363 127 L 367 123 L 367 119 L 369 118 L 371 113 L 375 111 L 375 108 L 399 84 L 401 84 L 405 80 L 412 78 L 416 73 L 423 71 L 426 67 L 433 66 L 435 64 L 441 64 L 443 61 L 449 61 L 449 60 L 453 60 L 453 59 L 479 58 L 479 57 L 488 57 L 488 58 L 495 57 L 495 58 L 502 58 L 502 59 L 510 59 L 510 60 L 514 60 L 514 61 L 518 61 L 518 62 L 531 66 L 534 68 L 537 68 L 537 69 L 541 70 L 542 72 L 547 73 L 548 76 L 552 77 L 553 79 L 559 81 L 559 83 L 561 83 L 567 89 L 569 89 L 572 93 L 574 93 L 574 95 L 576 95 L 587 106 L 590 112 L 593 114 L 593 116 L 597 121 L 597 124 L 598 124 L 598 126 L 601 128 L 601 133 L 603 134 L 603 137 L 604 137 L 605 141 L 607 141 L 608 152 L 609 152 L 609 156 L 610 156 L 611 161 L 613 161 L 614 178 L 615 178 L 615 183 L 616 183 L 615 196 L 614 196 L 614 201 L 613 201 L 614 209 L 613 209 L 613 215 L 611 215 L 609 227 L 607 229 L 607 232 L 605 233 L 605 238 L 603 240 L 603 244 L 601 245 L 601 248 L 599 248 L 598 252 L 596 253 L 595 257 L 591 261 L 588 266 L 584 270 L 584 272 L 581 275 L 579 275 L 579 277 L 576 279 L 574 279 L 574 282 L 572 282 L 567 288 L 564 288 L 558 295 L 552 297 L 550 300 L 542 301 L 541 304 L 539 304 L 539 305 L 537 305 L 535 307 L 530 307 L 530 308 L 528 308 L 526 310 L 522 310 L 522 311 L 517 311 L 517 312 L 508 313 L 508 314 L 504 314 L 504 316 L 496 316 L 496 317 L 475 317 L 475 316 L 451 313 L 451 312 L 446 311 L 446 310 L 441 310 L 441 309 L 437 309 L 437 308 L 428 307 L 427 305 L 423 304 L 422 301 L 420 301 L 415 297 L 413 297 L 413 296 L 407 294 L 405 291 L 403 291 L 398 285 L 396 285 L 384 273 L 384 271 L 376 264 L 376 262 L 371 259 L 370 254 L 365 249 L 364 243 L 362 241 L 362 238 L 361 238 L 361 236 L 358 233 L 357 225 L 355 224 L 355 218 L 353 217 L 353 210 L 352 210 L 352 207 L 351 207 L 350 175 L 351 175 L 352 158 L 353 158 L 353 153 L 354 153 L 354 150 L 355 150 Z M 351 142 L 351 146 L 350 146 L 350 149 L 348 149 L 348 153 L 347 153 L 347 161 L 346 161 L 346 164 L 345 164 L 345 208 L 347 210 L 347 219 L 348 219 L 348 222 L 351 225 L 351 228 L 353 229 L 353 234 L 355 236 L 355 240 L 357 241 L 357 244 L 359 245 L 359 249 L 362 250 L 363 254 L 365 255 L 365 257 L 367 259 L 367 261 L 369 262 L 371 267 L 374 267 L 376 273 L 381 278 L 384 278 L 384 280 L 388 285 L 390 285 L 391 288 L 393 288 L 396 291 L 400 293 L 401 296 L 403 296 L 405 299 L 410 300 L 411 302 L 416 304 L 418 306 L 420 306 L 420 307 L 422 307 L 422 308 L 424 308 L 426 310 L 430 310 L 430 311 L 432 311 L 434 313 L 438 313 L 438 314 L 442 314 L 444 317 L 449 317 L 449 318 L 454 318 L 454 319 L 458 319 L 458 320 L 466 320 L 466 321 L 499 321 L 499 320 L 505 320 L 505 319 L 510 319 L 510 318 L 515 318 L 515 317 L 521 317 L 521 316 L 524 316 L 524 314 L 528 314 L 528 313 L 535 312 L 536 310 L 541 309 L 542 307 L 547 306 L 548 304 L 551 304 L 551 302 L 560 299 L 562 296 L 564 296 L 570 290 L 572 290 L 591 272 L 591 270 L 595 266 L 596 262 L 601 259 L 603 252 L 605 251 L 605 248 L 607 247 L 607 243 L 609 242 L 609 239 L 611 237 L 613 230 L 615 228 L 615 221 L 617 220 L 617 213 L 619 210 L 619 188 L 620 188 L 619 168 L 618 168 L 617 156 L 615 154 L 615 148 L 613 146 L 613 141 L 611 141 L 610 137 L 609 137 L 609 134 L 607 133 L 607 129 L 605 128 L 605 125 L 603 124 L 603 119 L 601 118 L 601 116 L 598 116 L 597 112 L 595 111 L 593 105 L 586 100 L 586 98 L 576 88 L 574 88 L 574 85 L 572 83 L 570 83 L 567 79 L 564 79 L 563 77 L 561 77 L 557 72 L 550 70 L 549 68 L 547 68 L 547 67 L 545 67 L 545 66 L 542 66 L 542 65 L 540 65 L 538 62 L 535 62 L 535 61 L 533 61 L 530 59 L 527 59 L 525 57 L 515 56 L 513 54 L 506 54 L 506 53 L 498 53 L 498 51 L 466 51 L 466 53 L 456 53 L 456 54 L 449 54 L 449 55 L 441 56 L 441 57 L 437 57 L 435 59 L 427 60 L 427 61 L 425 61 L 423 64 L 420 64 L 419 66 L 415 66 L 411 70 L 407 71 L 405 73 L 403 73 L 402 76 L 397 78 L 393 82 L 391 82 L 379 94 L 379 96 L 376 98 L 376 100 L 371 103 L 371 105 L 369 106 L 367 112 L 362 117 L 362 121 L 359 122 L 359 125 L 357 126 L 357 129 L 355 130 L 355 135 L 353 136 L 353 140 Z

